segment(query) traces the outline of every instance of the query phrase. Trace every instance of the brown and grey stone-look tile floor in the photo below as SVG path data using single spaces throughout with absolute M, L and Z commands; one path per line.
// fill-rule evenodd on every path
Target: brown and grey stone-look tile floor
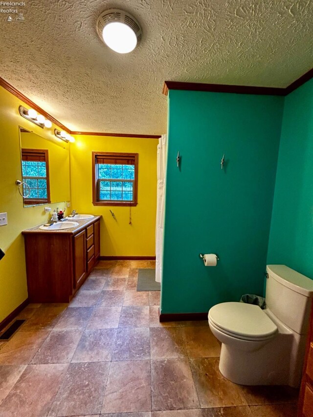
M 148 261 L 101 261 L 72 302 L 29 305 L 0 343 L 0 416 L 292 417 L 297 391 L 243 387 L 218 370 L 207 322 L 159 323 L 136 292 Z

